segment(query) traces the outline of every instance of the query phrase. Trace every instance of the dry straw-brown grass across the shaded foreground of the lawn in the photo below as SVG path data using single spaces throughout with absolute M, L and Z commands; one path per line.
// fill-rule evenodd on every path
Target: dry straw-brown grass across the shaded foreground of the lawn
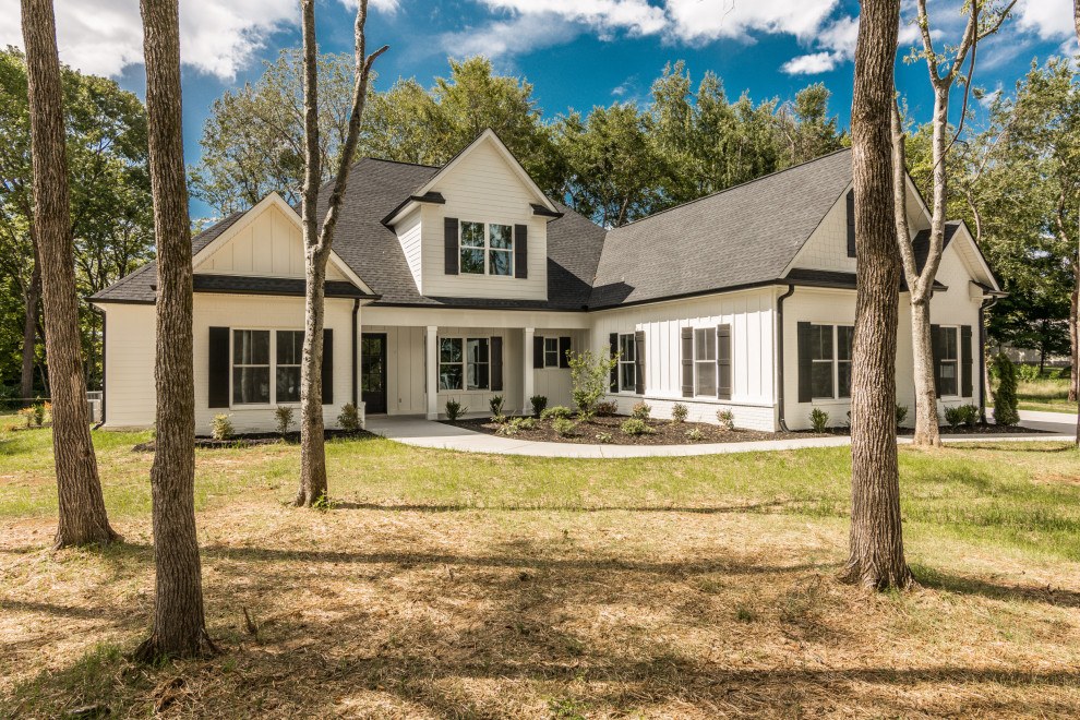
M 263 493 L 199 524 L 224 652 L 164 668 L 117 650 L 151 620 L 146 521 L 59 554 L 49 519 L 0 525 L 4 715 L 1080 715 L 1072 562 L 914 540 L 924 587 L 865 595 L 832 579 L 842 519 L 737 507 L 316 513 Z

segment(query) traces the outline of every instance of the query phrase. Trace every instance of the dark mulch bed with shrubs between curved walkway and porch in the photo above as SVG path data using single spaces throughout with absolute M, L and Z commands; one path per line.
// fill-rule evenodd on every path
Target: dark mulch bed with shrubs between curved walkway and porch
M 805 432 L 763 432 L 759 430 L 723 430 L 720 425 L 707 422 L 679 422 L 670 420 L 647 420 L 647 424 L 656 432 L 651 435 L 627 435 L 621 429 L 623 422 L 628 418 L 610 417 L 595 418 L 591 422 L 579 422 L 577 434 L 573 437 L 563 437 L 551 427 L 550 420 L 541 420 L 536 430 L 518 430 L 513 435 L 500 435 L 511 440 L 531 440 L 543 443 L 577 443 L 580 445 L 700 445 L 703 443 L 748 443 L 758 440 L 793 440 L 795 437 L 807 437 Z M 489 418 L 477 418 L 472 420 L 458 420 L 457 422 L 443 421 L 444 424 L 456 428 L 464 428 L 475 432 L 482 432 L 489 435 L 499 434 L 500 428 L 504 425 L 492 422 Z M 701 433 L 700 440 L 691 440 L 687 433 L 692 430 Z M 611 440 L 601 443 L 601 434 L 611 435 Z M 827 435 L 809 433 L 811 437 L 826 437 Z

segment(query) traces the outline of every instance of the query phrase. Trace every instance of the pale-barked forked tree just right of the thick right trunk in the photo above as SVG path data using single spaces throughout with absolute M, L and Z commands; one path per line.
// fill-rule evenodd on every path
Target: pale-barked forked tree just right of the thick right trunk
M 946 52 L 944 55 L 934 49 L 929 17 L 926 13 L 926 0 L 917 0 L 917 2 L 916 23 L 923 39 L 923 49 L 919 56 L 926 61 L 931 86 L 934 91 L 932 121 L 934 196 L 931 202 L 929 248 L 921 268 L 915 261 L 913 238 L 908 228 L 907 192 L 903 184 L 896 187 L 895 204 L 900 256 L 903 262 L 903 274 L 908 280 L 911 302 L 911 336 L 915 373 L 914 444 L 939 446 L 941 435 L 938 432 L 937 391 L 934 380 L 931 298 L 934 295 L 934 280 L 941 264 L 941 253 L 945 250 L 945 221 L 948 219 L 947 155 L 955 142 L 955 137 L 949 136 L 949 95 L 952 92 L 952 86 L 958 82 L 963 83 L 965 91 L 970 88 L 979 41 L 997 32 L 1005 19 L 1009 16 L 1017 0 L 1010 0 L 1004 4 L 999 4 L 997 0 L 970 0 L 964 5 L 968 12 L 968 24 L 964 27 L 960 44 L 952 48 L 951 53 Z M 971 60 L 967 71 L 964 71 L 964 63 L 968 62 L 969 55 Z M 965 92 L 961 118 L 967 112 L 967 104 L 968 93 Z M 904 133 L 900 123 L 900 108 L 896 101 L 892 103 L 891 112 L 893 161 L 899 168 L 902 168 L 904 167 Z M 897 169 L 897 180 L 902 179 L 902 172 L 899 168 Z

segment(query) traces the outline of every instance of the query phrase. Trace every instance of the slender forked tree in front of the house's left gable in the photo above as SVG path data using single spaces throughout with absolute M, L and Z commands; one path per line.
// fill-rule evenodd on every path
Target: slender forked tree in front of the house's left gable
M 383 46 L 365 57 L 364 24 L 368 21 L 368 0 L 360 0 L 356 21 L 356 65 L 352 91 L 352 109 L 348 132 L 341 145 L 341 155 L 334 178 L 334 187 L 326 203 L 322 227 L 316 215 L 321 156 L 319 147 L 319 63 L 315 47 L 315 2 L 301 0 L 300 20 L 303 32 L 303 118 L 304 118 L 304 180 L 301 203 L 304 245 L 304 336 L 300 364 L 300 487 L 296 505 L 311 507 L 326 495 L 326 448 L 323 427 L 323 314 L 325 309 L 326 262 L 334 245 L 334 228 L 337 226 L 349 182 L 349 170 L 360 136 L 360 121 L 368 99 L 368 82 L 371 65 L 380 55 L 389 49 Z

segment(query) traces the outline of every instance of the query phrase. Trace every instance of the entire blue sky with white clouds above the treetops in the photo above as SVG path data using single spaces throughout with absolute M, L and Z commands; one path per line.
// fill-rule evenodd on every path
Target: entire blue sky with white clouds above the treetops
M 960 0 L 931 0 L 935 41 L 960 37 Z M 1009 91 L 1032 58 L 1072 55 L 1071 0 L 1020 0 L 999 36 L 980 46 L 975 84 Z M 0 0 L 15 17 L 19 0 Z M 316 4 L 321 49 L 352 49 L 356 0 Z M 832 91 L 831 111 L 848 124 L 857 0 L 371 0 L 371 47 L 391 46 L 376 63 L 376 87 L 398 77 L 430 85 L 446 75 L 447 57 L 487 55 L 503 73 L 524 75 L 547 117 L 568 108 L 637 100 L 667 62 L 685 60 L 694 81 L 718 73 L 729 97 L 792 97 L 814 82 Z M 903 0 L 904 20 L 914 0 Z M 211 103 L 262 72 L 262 60 L 299 44 L 296 0 L 180 0 L 184 151 L 199 159 L 199 136 Z M 143 95 L 137 0 L 60 0 L 61 60 L 110 75 Z M 901 45 L 917 41 L 912 25 Z M 0 44 L 21 45 L 17 23 Z M 898 86 L 916 120 L 932 107 L 925 64 L 898 63 Z M 959 97 L 959 95 L 958 95 Z M 193 217 L 208 208 L 193 202 Z

